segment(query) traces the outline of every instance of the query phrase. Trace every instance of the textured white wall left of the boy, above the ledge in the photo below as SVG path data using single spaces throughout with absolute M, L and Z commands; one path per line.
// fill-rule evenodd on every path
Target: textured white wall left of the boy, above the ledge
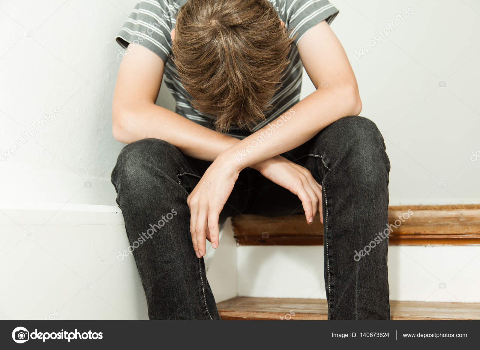
M 2 200 L 115 204 L 109 177 L 123 144 L 111 134 L 114 36 L 135 3 L 0 1 Z M 159 100 L 172 107 L 169 95 Z M 50 112 L 34 138 L 1 157 Z

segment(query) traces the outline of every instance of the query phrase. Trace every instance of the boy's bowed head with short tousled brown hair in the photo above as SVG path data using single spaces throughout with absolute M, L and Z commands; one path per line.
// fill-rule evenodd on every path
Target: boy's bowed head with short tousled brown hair
M 292 42 L 267 0 L 188 0 L 172 38 L 193 107 L 216 117 L 217 130 L 264 119 Z

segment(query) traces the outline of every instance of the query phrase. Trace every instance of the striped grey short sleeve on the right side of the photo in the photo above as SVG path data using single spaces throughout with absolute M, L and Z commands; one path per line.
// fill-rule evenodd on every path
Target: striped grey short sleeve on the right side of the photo
M 338 10 L 328 0 L 287 0 L 286 1 L 286 22 L 288 30 L 291 30 L 291 36 L 295 36 L 293 41 L 296 44 L 307 31 L 326 21 L 332 23 Z

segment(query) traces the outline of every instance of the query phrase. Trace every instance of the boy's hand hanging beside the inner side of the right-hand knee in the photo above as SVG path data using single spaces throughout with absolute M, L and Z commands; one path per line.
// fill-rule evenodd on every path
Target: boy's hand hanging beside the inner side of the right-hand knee
M 270 181 L 297 195 L 303 205 L 308 224 L 312 224 L 317 210 L 320 214 L 320 222 L 324 222 L 322 186 L 315 181 L 310 170 L 281 156 L 266 159 L 254 164 L 252 168 L 260 171 Z

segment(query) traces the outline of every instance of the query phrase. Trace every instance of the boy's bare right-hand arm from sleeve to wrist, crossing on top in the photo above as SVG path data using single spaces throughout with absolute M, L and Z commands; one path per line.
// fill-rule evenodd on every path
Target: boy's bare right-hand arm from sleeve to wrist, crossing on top
M 337 37 L 325 22 L 312 27 L 298 44 L 300 58 L 316 90 L 292 107 L 295 116 L 288 121 L 278 118 L 270 124 L 283 125 L 271 133 L 271 137 L 255 147 L 252 155 L 234 163 L 243 169 L 253 163 L 274 157 L 291 150 L 319 133 L 334 121 L 361 111 L 357 80 L 347 55 Z M 267 125 L 240 143 L 225 151 L 225 157 L 233 159 L 236 150 L 243 150 Z

